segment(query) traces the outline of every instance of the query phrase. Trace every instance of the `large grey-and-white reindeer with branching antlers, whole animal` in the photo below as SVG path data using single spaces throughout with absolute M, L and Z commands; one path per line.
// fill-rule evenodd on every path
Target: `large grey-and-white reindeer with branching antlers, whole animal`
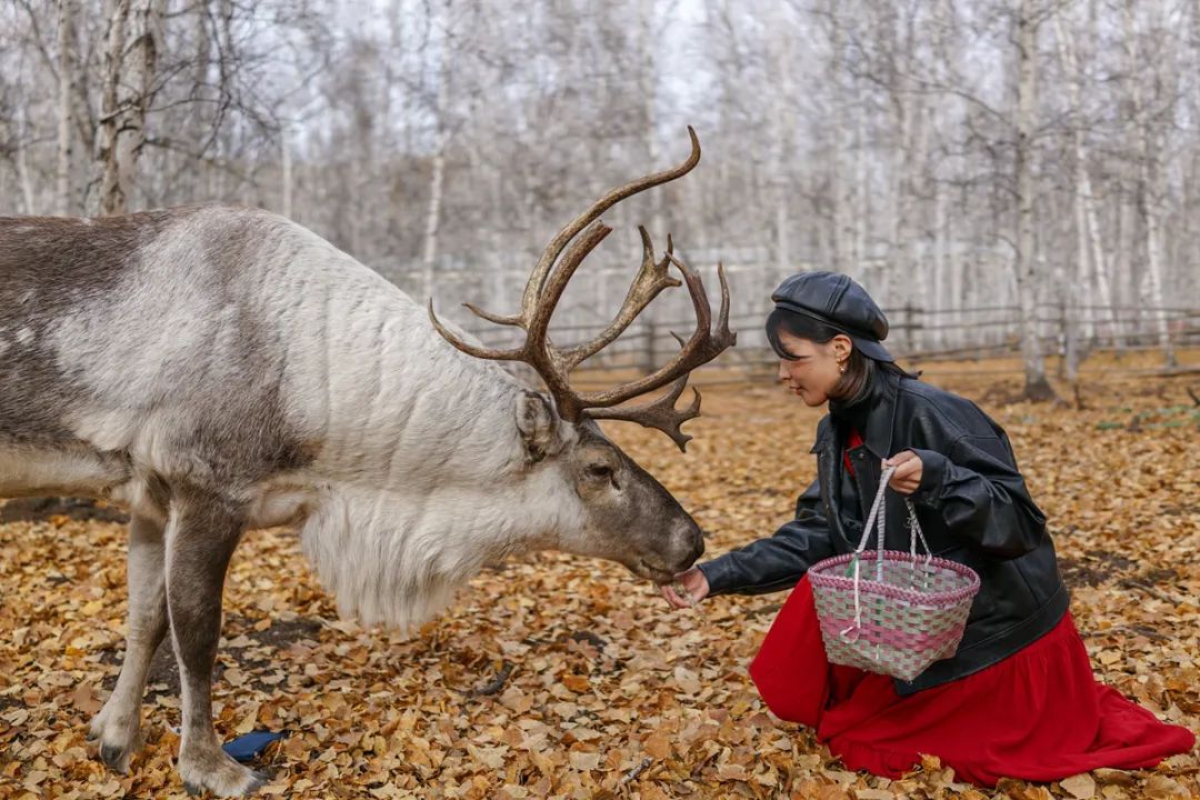
M 700 277 L 670 240 L 655 260 L 640 228 L 641 269 L 612 323 L 569 349 L 547 335 L 568 281 L 611 230 L 600 215 L 690 172 L 689 133 L 685 162 L 608 192 L 551 240 L 518 314 L 468 305 L 522 329 L 512 349 L 469 339 L 432 301 L 422 313 L 265 211 L 0 219 L 0 497 L 92 497 L 131 516 L 125 657 L 90 729 L 104 763 L 125 772 L 140 746 L 146 672 L 169 631 L 185 787 L 230 796 L 260 784 L 222 751 L 211 718 L 224 576 L 247 530 L 294 527 L 341 613 L 402 630 L 516 553 L 611 559 L 658 583 L 701 555 L 695 521 L 595 420 L 640 422 L 684 447 L 680 425 L 700 413 L 695 389 L 676 408 L 689 373 L 736 339 L 724 272 L 714 331 Z M 575 367 L 680 285 L 672 265 L 697 320 L 682 351 L 616 389 L 572 390 Z M 548 392 L 497 361 L 530 365 Z

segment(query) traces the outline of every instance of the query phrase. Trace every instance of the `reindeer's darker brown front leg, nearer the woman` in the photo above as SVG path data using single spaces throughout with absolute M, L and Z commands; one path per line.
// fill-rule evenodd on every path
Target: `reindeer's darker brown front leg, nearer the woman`
M 212 664 L 221 634 L 226 570 L 244 530 L 221 498 L 176 494 L 167 524 L 167 608 L 179 661 L 182 724 L 179 774 L 191 794 L 252 793 L 263 778 L 223 750 L 212 729 Z

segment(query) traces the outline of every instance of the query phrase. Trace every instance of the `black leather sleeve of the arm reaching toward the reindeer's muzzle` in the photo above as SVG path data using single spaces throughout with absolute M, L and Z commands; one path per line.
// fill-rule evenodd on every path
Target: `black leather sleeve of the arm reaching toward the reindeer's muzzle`
M 700 565 L 708 595 L 762 595 L 791 589 L 809 566 L 834 554 L 817 482 L 796 501 L 796 519 L 774 535 Z

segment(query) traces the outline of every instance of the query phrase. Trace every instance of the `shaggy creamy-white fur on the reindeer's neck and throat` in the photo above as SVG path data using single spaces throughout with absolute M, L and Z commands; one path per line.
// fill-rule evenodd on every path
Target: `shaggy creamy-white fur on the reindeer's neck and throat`
M 485 564 L 554 547 L 582 507 L 560 500 L 575 495 L 552 463 L 524 462 L 523 384 L 451 347 L 425 308 L 356 263 L 329 279 L 286 337 L 298 368 L 284 393 L 304 398 L 302 427 L 322 443 L 301 541 L 341 613 L 408 631 Z M 341 356 L 313 368 L 326 353 Z

